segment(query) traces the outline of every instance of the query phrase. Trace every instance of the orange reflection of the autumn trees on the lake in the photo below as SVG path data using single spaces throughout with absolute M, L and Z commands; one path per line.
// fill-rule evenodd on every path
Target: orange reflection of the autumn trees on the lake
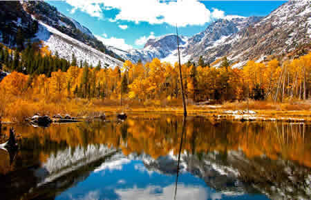
M 21 148 L 35 150 L 37 159 L 70 146 L 104 143 L 121 148 L 124 154 L 145 153 L 153 158 L 178 153 L 182 117 L 147 115 L 123 123 L 75 123 L 41 128 L 17 127 L 23 133 Z M 243 150 L 249 158 L 265 155 L 271 159 L 290 159 L 311 166 L 310 126 L 291 123 L 214 123 L 205 117 L 188 117 L 182 150 L 227 152 Z M 44 155 L 45 154 L 45 155 Z M 44 161 L 44 160 L 41 160 Z

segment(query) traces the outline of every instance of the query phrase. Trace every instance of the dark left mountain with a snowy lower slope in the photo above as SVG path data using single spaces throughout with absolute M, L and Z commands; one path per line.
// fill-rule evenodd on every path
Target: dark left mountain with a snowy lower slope
M 18 12 L 14 12 L 18 10 Z M 42 41 L 53 54 L 96 66 L 122 66 L 122 59 L 97 40 L 88 28 L 64 16 L 44 1 L 6 1 L 0 5 L 0 41 L 15 47 L 17 30 L 32 41 Z

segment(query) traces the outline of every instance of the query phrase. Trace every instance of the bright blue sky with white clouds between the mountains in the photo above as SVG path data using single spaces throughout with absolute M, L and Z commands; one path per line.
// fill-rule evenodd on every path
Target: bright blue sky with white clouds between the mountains
M 148 39 L 178 33 L 191 37 L 232 15 L 266 16 L 286 1 L 63 0 L 46 1 L 79 21 L 106 46 L 143 48 Z

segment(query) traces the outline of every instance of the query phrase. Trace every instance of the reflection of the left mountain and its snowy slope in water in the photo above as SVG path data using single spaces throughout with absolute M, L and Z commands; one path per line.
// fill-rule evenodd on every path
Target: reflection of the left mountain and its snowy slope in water
M 53 199 L 63 190 L 82 181 L 117 150 L 104 145 L 88 145 L 51 154 L 42 165 L 23 168 L 3 176 L 0 190 L 7 199 Z M 23 162 L 17 160 L 17 162 Z

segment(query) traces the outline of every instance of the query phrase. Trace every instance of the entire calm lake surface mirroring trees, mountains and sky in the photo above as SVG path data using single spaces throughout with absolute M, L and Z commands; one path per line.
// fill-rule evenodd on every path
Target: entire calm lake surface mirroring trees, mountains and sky
M 0 150 L 1 199 L 311 197 L 308 123 L 133 114 L 15 129 L 19 151 Z

